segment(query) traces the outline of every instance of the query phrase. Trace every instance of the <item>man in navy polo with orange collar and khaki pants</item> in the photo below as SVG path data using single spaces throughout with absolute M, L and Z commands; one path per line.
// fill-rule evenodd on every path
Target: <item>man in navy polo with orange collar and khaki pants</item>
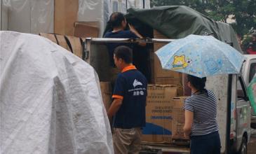
M 114 50 L 114 64 L 121 71 L 116 78 L 112 98 L 107 111 L 114 116 L 114 152 L 116 154 L 140 153 L 142 127 L 145 125 L 147 79 L 137 71 L 133 52 L 121 45 Z

